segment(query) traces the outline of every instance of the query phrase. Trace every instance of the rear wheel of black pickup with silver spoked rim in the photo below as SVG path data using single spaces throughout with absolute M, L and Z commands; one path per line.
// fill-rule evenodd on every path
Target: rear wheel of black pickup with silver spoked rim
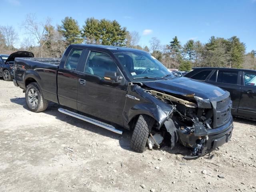
M 34 93 L 34 94 L 33 94 Z M 48 107 L 38 83 L 30 83 L 26 88 L 26 104 L 32 112 L 42 112 Z M 31 102 L 32 101 L 32 102 Z

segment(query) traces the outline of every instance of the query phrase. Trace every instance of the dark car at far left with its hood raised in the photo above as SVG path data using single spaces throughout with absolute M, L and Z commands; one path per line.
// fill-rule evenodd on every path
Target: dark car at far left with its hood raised
M 0 76 L 2 76 L 5 81 L 11 81 L 14 78 L 13 64 L 16 57 L 31 58 L 34 57 L 34 54 L 27 51 L 18 51 L 10 55 L 2 55 L 0 57 Z

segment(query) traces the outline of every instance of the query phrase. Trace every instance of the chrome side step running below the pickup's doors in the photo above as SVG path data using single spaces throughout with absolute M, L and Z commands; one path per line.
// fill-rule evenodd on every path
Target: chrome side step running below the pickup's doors
M 95 119 L 90 118 L 90 117 L 86 117 L 86 116 L 84 116 L 84 115 L 80 115 L 80 114 L 75 113 L 75 112 L 72 112 L 72 111 L 70 111 L 70 110 L 66 110 L 66 109 L 63 109 L 63 108 L 58 108 L 58 111 L 61 112 L 61 113 L 67 114 L 67 115 L 69 115 L 69 116 L 72 116 L 72 117 L 75 117 L 75 118 L 84 120 L 84 121 L 89 122 L 89 123 L 91 123 L 91 124 L 100 126 L 100 127 L 104 128 L 104 129 L 110 130 L 110 131 L 112 131 L 112 132 L 115 132 L 115 133 L 118 133 L 118 134 L 122 134 L 122 133 L 123 133 L 121 130 L 116 129 L 116 128 L 115 128 L 114 126 L 112 126 L 112 125 L 106 124 L 106 123 L 104 123 L 104 122 L 95 120 Z

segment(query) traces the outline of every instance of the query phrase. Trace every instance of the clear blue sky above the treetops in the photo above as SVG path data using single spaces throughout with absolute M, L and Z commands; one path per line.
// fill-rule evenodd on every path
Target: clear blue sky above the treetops
M 142 46 L 152 37 L 168 44 L 174 36 L 184 44 L 189 39 L 206 43 L 210 36 L 238 36 L 246 51 L 256 50 L 256 0 L 0 0 L 0 25 L 12 25 L 24 38 L 20 25 L 26 14 L 38 21 L 52 18 L 61 24 L 72 16 L 80 27 L 88 17 L 116 19 L 129 31 L 140 33 Z

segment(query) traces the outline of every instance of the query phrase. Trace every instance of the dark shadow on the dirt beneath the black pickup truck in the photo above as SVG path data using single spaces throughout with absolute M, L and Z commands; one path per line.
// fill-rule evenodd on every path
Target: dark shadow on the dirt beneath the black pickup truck
M 25 98 L 11 98 L 10 101 L 15 104 L 19 104 L 23 106 L 23 108 L 27 109 Z M 54 116 L 56 119 L 66 122 L 72 126 L 76 126 L 78 128 L 82 128 L 84 130 L 88 130 L 90 132 L 94 132 L 103 136 L 107 136 L 109 138 L 114 138 L 118 140 L 118 145 L 128 151 L 134 152 L 130 149 L 130 137 L 131 133 L 128 130 L 123 130 L 123 134 L 119 135 L 104 128 L 98 127 L 96 125 L 90 124 L 83 120 L 68 116 L 66 114 L 62 114 L 58 112 L 58 108 L 61 106 L 59 104 L 50 102 L 47 110 L 42 113 Z M 190 149 L 184 147 L 183 145 L 177 143 L 173 149 L 170 148 L 167 144 L 163 144 L 160 149 L 153 148 L 153 150 L 161 150 L 166 151 L 170 154 L 181 154 L 182 156 L 186 156 L 190 154 Z

